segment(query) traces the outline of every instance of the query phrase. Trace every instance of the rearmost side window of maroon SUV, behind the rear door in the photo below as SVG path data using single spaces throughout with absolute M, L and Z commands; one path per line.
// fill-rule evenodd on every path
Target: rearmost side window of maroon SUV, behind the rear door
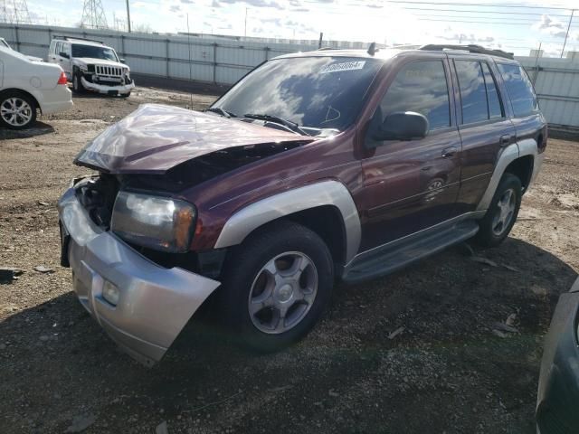
M 527 72 L 521 66 L 512 63 L 498 63 L 497 66 L 505 81 L 515 117 L 520 118 L 535 113 L 538 110 L 538 104 Z

